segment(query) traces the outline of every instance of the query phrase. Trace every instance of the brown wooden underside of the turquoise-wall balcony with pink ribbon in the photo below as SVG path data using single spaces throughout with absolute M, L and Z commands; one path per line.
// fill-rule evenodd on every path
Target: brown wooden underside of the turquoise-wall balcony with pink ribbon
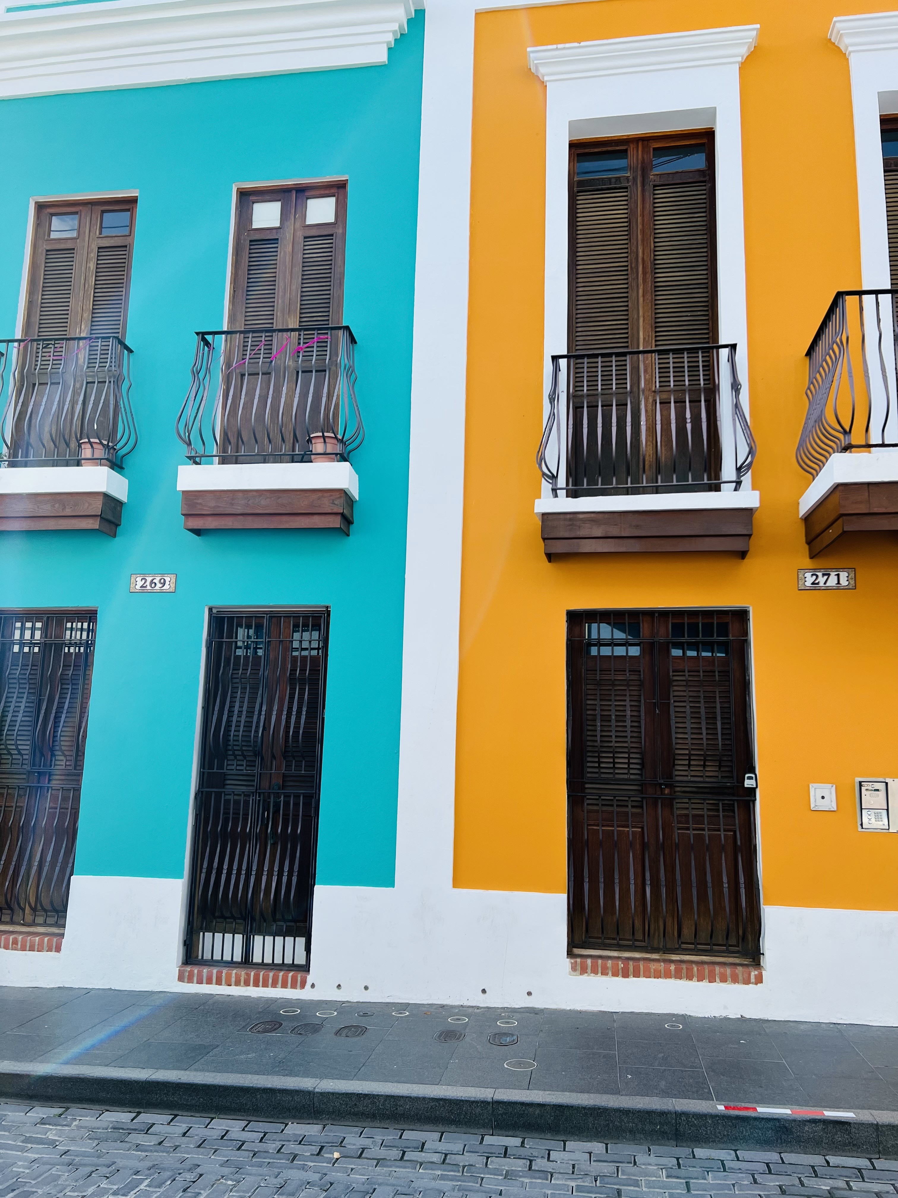
M 340 528 L 348 537 L 352 498 L 342 490 L 182 491 L 184 528 Z

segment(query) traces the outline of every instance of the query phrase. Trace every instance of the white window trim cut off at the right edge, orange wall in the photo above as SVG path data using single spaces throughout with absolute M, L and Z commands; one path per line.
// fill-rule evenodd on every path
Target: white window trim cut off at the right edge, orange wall
M 898 12 L 836 17 L 830 38 L 848 55 L 851 73 L 861 278 L 864 288 L 888 288 L 888 232 L 879 119 L 898 113 Z

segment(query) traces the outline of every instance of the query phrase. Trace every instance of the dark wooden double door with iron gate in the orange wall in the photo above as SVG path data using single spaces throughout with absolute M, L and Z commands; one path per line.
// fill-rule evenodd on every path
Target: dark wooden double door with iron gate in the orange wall
M 746 611 L 568 613 L 572 952 L 759 958 L 748 661 Z

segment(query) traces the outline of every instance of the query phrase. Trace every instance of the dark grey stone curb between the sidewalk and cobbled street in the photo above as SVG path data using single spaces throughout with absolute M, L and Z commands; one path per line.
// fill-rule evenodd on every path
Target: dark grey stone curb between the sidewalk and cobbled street
M 433 1127 L 485 1135 L 898 1156 L 898 1112 L 854 1119 L 718 1111 L 714 1102 L 548 1090 L 0 1061 L 0 1099 L 278 1123 Z

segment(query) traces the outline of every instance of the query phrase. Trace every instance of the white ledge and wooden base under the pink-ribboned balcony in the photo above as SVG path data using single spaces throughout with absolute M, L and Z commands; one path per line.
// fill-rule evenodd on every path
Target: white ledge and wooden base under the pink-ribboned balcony
M 184 528 L 340 528 L 350 532 L 358 476 L 346 461 L 180 466 Z

